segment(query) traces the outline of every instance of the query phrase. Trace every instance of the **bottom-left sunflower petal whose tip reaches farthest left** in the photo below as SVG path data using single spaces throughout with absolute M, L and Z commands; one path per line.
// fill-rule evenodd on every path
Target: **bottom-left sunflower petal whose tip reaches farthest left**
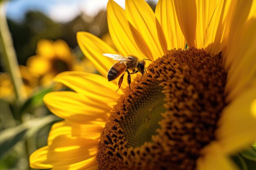
M 45 146 L 31 154 L 29 159 L 30 166 L 40 169 L 62 168 L 69 170 L 85 169 L 85 167 L 90 168 L 90 166 L 97 163 L 95 160 L 97 150 L 97 140 L 72 139 L 59 136 L 51 146 Z

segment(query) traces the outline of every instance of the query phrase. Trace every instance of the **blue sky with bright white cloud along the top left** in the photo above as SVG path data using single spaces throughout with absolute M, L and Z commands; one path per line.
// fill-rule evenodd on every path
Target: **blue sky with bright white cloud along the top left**
M 157 0 L 156 0 L 157 1 Z M 125 0 L 115 0 L 125 7 Z M 41 11 L 57 22 L 69 22 L 81 11 L 96 15 L 106 9 L 108 0 L 11 0 L 7 4 L 7 17 L 22 22 L 27 11 Z

